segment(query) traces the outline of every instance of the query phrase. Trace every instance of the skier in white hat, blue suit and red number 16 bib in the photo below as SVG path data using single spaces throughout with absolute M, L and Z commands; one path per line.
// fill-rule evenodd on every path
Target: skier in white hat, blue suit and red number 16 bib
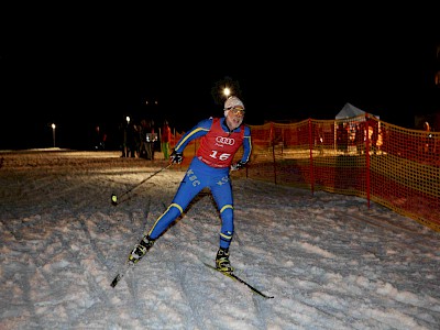
M 132 250 L 129 262 L 138 263 L 153 246 L 155 240 L 185 211 L 197 194 L 208 187 L 221 217 L 220 248 L 216 256 L 216 267 L 222 272 L 233 272 L 229 261 L 229 246 L 234 230 L 229 170 L 238 170 L 245 166 L 251 155 L 252 142 L 251 130 L 243 124 L 243 102 L 238 97 L 231 96 L 226 100 L 223 110 L 224 118 L 209 118 L 200 121 L 186 132 L 173 148 L 169 160 L 173 164 L 180 164 L 185 146 L 195 139 L 201 139 L 200 146 L 172 204 Z M 241 146 L 243 146 L 242 157 L 234 163 L 234 155 Z

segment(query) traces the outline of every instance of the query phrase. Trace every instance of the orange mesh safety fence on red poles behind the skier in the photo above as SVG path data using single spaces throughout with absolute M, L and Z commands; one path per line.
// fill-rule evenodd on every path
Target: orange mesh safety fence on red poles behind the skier
M 403 129 L 369 114 L 250 128 L 251 162 L 233 175 L 359 196 L 440 231 L 440 132 Z M 183 166 L 198 143 L 186 147 Z

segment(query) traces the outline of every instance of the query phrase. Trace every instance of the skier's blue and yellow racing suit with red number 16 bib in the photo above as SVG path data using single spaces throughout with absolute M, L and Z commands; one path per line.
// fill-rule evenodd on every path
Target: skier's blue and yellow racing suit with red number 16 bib
M 229 248 L 233 235 L 233 197 L 230 165 L 234 154 L 243 146 L 241 162 L 248 163 L 251 152 L 251 130 L 242 124 L 230 131 L 226 118 L 209 118 L 198 122 L 177 142 L 174 150 L 183 153 L 186 145 L 201 139 L 200 146 L 183 178 L 172 204 L 158 217 L 148 232 L 157 239 L 188 207 L 204 188 L 209 188 L 221 217 L 220 248 Z

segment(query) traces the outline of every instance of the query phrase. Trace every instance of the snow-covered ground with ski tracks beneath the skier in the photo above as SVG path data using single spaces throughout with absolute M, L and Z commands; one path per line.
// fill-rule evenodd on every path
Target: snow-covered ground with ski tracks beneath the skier
M 209 191 L 112 288 L 184 172 L 118 152 L 0 158 L 0 329 L 440 329 L 440 234 L 374 202 L 232 174 L 231 262 L 273 299 L 204 265 Z

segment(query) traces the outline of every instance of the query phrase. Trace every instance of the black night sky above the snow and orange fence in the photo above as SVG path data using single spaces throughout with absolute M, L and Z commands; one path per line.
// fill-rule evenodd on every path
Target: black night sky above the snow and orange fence
M 96 124 L 111 131 L 127 114 L 153 113 L 188 130 L 222 114 L 211 88 L 227 76 L 240 84 L 250 124 L 332 119 L 351 102 L 413 128 L 415 114 L 439 105 L 431 90 L 439 40 L 408 18 L 133 11 L 6 21 L 0 148 L 51 146 L 52 122 L 58 146 L 87 147 Z

